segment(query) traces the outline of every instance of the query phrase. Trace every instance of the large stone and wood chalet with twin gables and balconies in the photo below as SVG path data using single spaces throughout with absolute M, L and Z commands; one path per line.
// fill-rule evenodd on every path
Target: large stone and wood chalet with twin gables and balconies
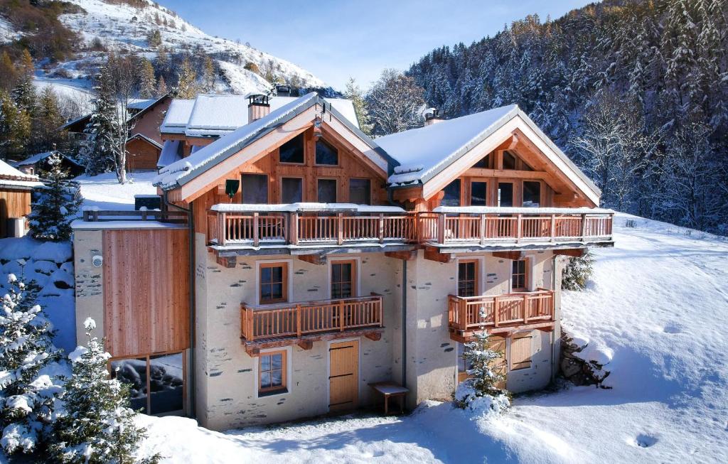
M 195 114 L 217 98 L 170 105 L 167 212 L 74 223 L 79 340 L 95 318 L 135 407 L 221 430 L 371 405 L 388 380 L 410 408 L 449 400 L 479 331 L 510 391 L 551 382 L 561 268 L 613 246 L 612 212 L 523 111 L 371 140 L 314 93 L 230 100 L 242 126 Z

